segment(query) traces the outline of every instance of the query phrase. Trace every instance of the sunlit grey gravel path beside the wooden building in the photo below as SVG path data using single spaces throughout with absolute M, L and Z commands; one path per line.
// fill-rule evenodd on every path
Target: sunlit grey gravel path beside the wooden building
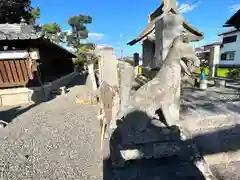
M 20 115 L 0 133 L 0 179 L 102 179 L 98 107 L 75 103 L 91 84 L 69 90 L 25 113 L 15 108 Z

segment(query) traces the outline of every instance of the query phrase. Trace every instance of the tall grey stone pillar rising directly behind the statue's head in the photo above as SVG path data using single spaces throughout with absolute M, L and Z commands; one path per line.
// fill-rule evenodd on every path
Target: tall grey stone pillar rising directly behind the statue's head
M 168 13 L 155 23 L 155 68 L 161 67 L 173 39 L 183 30 L 181 14 Z

